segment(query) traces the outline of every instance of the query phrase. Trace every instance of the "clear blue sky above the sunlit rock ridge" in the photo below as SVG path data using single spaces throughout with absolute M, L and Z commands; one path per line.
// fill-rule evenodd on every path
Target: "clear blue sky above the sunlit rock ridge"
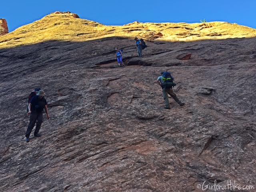
M 256 0 L 3 0 L 9 32 L 55 11 L 105 25 L 139 22 L 226 21 L 256 28 Z

